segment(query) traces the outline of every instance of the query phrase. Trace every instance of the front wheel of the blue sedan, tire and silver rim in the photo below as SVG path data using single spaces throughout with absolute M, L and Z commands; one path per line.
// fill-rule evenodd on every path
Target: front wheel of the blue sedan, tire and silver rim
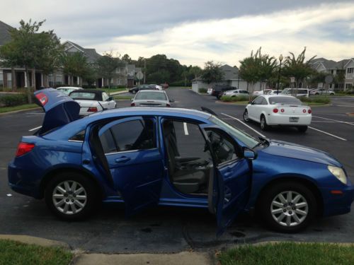
M 290 197 L 292 199 L 289 199 Z M 298 200 L 294 205 L 295 199 Z M 317 205 L 314 194 L 298 182 L 274 184 L 261 194 L 258 202 L 259 216 L 270 229 L 278 232 L 292 233 L 304 230 L 316 216 Z

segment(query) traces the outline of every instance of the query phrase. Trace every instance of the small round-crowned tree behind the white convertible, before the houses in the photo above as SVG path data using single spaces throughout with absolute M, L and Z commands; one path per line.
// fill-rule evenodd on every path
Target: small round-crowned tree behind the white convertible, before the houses
M 109 52 L 98 58 L 96 65 L 98 76 L 108 79 L 108 88 L 110 88 L 110 81 L 116 76 L 116 69 L 124 66 L 124 61 L 119 56 L 114 57 L 113 53 Z

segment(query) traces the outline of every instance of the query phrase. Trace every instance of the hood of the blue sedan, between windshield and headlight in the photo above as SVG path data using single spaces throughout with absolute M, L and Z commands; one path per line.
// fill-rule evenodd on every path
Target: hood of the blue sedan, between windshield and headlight
M 287 158 L 307 160 L 314 163 L 333 165 L 336 167 L 342 166 L 341 163 L 339 163 L 338 160 L 333 158 L 333 156 L 329 153 L 306 146 L 299 146 L 295 143 L 270 140 L 269 146 L 264 148 L 262 151 L 270 155 L 280 155 Z

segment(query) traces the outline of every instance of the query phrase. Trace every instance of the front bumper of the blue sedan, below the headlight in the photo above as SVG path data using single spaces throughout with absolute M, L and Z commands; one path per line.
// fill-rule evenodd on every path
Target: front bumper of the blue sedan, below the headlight
M 340 190 L 343 194 L 332 194 L 333 188 L 321 189 L 324 197 L 323 216 L 336 216 L 350 212 L 351 204 L 354 201 L 354 186 L 350 185 Z

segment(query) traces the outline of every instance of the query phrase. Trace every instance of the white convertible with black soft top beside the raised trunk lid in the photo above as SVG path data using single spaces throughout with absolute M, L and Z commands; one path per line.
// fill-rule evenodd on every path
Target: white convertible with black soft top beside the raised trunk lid
M 69 96 L 78 102 L 81 116 L 117 107 L 113 97 L 108 96 L 105 91 L 99 89 L 74 90 Z

